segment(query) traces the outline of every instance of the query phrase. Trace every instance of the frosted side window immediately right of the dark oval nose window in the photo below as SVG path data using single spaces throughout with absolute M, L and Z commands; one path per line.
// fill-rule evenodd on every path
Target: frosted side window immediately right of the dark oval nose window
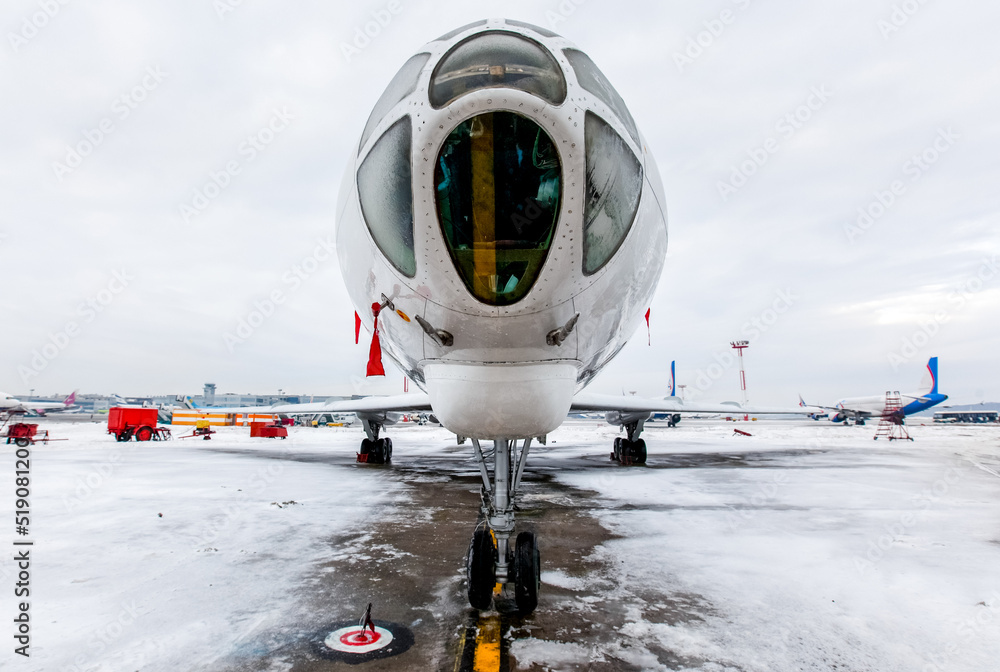
M 583 272 L 592 275 L 614 256 L 632 228 L 642 195 L 642 166 L 621 136 L 593 112 L 587 112 L 584 130 Z

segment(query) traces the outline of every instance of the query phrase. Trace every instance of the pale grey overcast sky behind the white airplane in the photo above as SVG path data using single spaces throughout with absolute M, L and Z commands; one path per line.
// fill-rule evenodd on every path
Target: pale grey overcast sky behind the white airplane
M 373 13 L 385 25 L 354 44 Z M 749 337 L 752 402 L 906 391 L 933 355 L 952 401 L 1000 399 L 1000 5 L 986 0 L 8 0 L 0 389 L 401 391 L 394 370 L 359 384 L 367 348 L 321 244 L 395 71 L 496 16 L 587 51 L 662 173 L 652 345 L 637 333 L 593 389 L 662 395 L 676 359 L 689 396 L 736 399 L 736 369 L 711 365 Z M 265 128 L 269 144 L 245 144 Z M 284 303 L 227 347 L 274 290 Z

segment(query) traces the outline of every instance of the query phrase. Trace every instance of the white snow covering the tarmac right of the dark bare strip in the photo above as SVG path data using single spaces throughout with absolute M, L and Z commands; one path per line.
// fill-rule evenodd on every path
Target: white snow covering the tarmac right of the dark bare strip
M 639 598 L 628 646 L 591 655 L 671 669 L 655 644 L 698 670 L 1000 669 L 998 428 L 917 426 L 890 444 L 872 425 L 740 426 L 754 435 L 652 430 L 650 468 L 560 476 L 627 505 L 596 515 L 623 537 L 597 551 L 622 573 L 610 592 Z M 700 599 L 673 623 L 644 616 L 678 595 Z M 512 650 L 544 667 L 532 645 Z

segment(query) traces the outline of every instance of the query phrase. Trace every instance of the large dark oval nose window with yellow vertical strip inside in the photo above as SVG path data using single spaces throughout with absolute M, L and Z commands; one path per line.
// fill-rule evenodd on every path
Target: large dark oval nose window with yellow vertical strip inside
M 559 216 L 561 163 L 549 135 L 513 112 L 472 117 L 445 140 L 434 183 L 445 241 L 469 291 L 494 306 L 524 298 Z

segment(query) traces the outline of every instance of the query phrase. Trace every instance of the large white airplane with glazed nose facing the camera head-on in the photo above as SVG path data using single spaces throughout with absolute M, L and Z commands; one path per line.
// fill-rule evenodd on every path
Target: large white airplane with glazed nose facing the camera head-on
M 369 372 L 384 351 L 424 392 L 269 410 L 356 412 L 372 462 L 391 458 L 381 430 L 403 412 L 472 439 L 485 513 L 468 554 L 475 608 L 497 583 L 522 612 L 537 605 L 537 541 L 512 540 L 513 502 L 532 440 L 568 413 L 605 412 L 627 434 L 615 459 L 641 464 L 651 413 L 743 412 L 583 391 L 643 320 L 666 199 L 621 96 L 546 29 L 479 21 L 411 57 L 365 124 L 336 220 L 344 282 L 373 333 Z

